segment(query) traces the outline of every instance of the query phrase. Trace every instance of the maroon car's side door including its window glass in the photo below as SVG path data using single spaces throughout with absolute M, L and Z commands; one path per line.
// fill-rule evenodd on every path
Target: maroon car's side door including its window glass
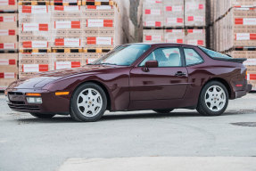
M 146 61 L 158 68 L 144 69 Z M 130 101 L 181 99 L 186 93 L 187 70 L 179 47 L 161 47 L 130 71 Z

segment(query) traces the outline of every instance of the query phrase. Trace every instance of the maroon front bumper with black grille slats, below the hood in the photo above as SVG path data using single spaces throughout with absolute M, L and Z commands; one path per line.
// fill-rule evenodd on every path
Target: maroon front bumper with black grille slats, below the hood
M 15 111 L 29 113 L 45 113 L 45 114 L 69 114 L 70 97 L 56 96 L 47 90 L 6 90 L 8 98 L 8 106 Z M 39 93 L 42 96 L 42 103 L 29 103 L 26 99 L 26 93 Z

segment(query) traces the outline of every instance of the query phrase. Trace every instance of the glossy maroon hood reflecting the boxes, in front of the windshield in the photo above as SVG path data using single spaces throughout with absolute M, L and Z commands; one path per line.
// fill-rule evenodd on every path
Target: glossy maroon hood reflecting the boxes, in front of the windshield
M 28 89 L 28 88 L 42 88 L 46 84 L 53 82 L 56 79 L 62 77 L 68 77 L 71 75 L 76 75 L 80 73 L 86 73 L 91 71 L 96 71 L 100 69 L 110 69 L 113 66 L 109 65 L 87 65 L 80 68 L 74 69 L 58 69 L 43 73 L 38 73 L 33 75 L 32 77 L 23 77 L 18 79 L 9 85 L 8 89 Z

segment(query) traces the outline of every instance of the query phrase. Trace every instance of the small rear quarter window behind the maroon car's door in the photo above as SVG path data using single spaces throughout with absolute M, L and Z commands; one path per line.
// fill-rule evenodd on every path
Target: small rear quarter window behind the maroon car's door
M 202 57 L 194 49 L 184 48 L 186 66 L 202 63 Z

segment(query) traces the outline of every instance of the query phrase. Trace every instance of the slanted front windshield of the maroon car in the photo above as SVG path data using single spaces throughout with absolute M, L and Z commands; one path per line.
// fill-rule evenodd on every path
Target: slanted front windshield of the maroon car
M 122 65 L 129 66 L 143 53 L 150 48 L 150 45 L 120 45 L 114 48 L 97 61 L 90 63 L 91 65 Z

